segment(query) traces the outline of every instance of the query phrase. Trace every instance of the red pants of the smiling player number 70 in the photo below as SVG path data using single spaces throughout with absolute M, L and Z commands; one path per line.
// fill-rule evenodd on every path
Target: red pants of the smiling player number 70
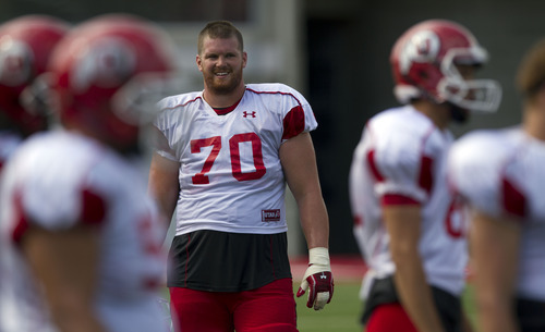
M 238 293 L 170 287 L 172 319 L 182 332 L 296 332 L 291 279 Z

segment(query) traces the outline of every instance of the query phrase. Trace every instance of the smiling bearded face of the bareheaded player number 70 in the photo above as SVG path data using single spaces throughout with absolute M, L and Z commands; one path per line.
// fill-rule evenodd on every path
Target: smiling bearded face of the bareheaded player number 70
M 231 95 L 243 89 L 242 70 L 246 66 L 246 57 L 234 36 L 206 36 L 196 59 L 198 70 L 203 73 L 205 90 L 213 95 Z

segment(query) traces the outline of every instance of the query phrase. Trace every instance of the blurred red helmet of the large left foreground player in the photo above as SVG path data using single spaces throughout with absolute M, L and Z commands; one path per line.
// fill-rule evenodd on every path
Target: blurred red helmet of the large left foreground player
M 61 122 L 118 148 L 134 145 L 174 74 L 173 51 L 166 34 L 140 17 L 110 14 L 76 26 L 49 67 Z

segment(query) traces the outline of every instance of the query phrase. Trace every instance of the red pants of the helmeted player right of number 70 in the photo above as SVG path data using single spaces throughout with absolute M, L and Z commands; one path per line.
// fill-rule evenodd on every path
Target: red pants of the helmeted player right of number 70
M 400 304 L 379 305 L 373 309 L 366 332 L 419 332 Z

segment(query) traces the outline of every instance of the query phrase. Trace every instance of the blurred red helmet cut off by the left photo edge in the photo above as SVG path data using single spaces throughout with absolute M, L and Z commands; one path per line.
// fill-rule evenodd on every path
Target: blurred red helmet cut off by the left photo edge
M 61 20 L 26 15 L 0 25 L 0 111 L 24 135 L 44 130 L 44 114 L 26 112 L 22 93 L 44 73 L 53 47 L 68 32 Z

